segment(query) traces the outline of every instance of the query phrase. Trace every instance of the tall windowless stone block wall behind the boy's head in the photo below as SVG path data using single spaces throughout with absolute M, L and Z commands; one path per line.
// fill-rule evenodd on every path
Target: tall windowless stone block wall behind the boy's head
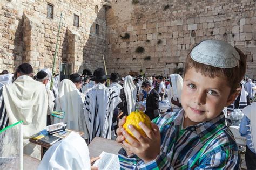
M 198 42 L 224 40 L 247 56 L 247 75 L 256 78 L 254 0 L 110 1 L 107 10 L 107 68 L 127 74 L 171 74 L 182 68 Z M 120 36 L 130 34 L 130 38 Z M 143 47 L 143 53 L 136 53 Z

